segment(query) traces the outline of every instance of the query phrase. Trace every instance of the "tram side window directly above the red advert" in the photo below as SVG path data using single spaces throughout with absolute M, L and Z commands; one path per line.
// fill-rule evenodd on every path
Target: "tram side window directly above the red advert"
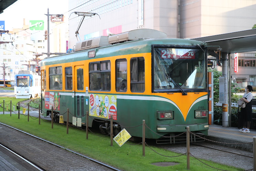
M 62 90 L 62 67 L 49 68 L 49 89 Z

